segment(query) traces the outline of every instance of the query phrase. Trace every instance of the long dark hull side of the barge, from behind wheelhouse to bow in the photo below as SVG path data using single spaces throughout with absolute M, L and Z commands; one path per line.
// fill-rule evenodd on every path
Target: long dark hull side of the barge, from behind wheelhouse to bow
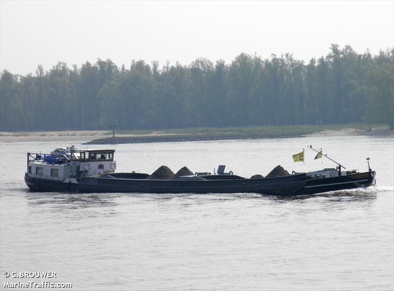
M 311 180 L 306 174 L 261 179 L 148 180 L 132 178 L 84 177 L 78 184 L 83 193 L 258 193 L 269 195 L 316 194 L 367 187 L 375 172 Z

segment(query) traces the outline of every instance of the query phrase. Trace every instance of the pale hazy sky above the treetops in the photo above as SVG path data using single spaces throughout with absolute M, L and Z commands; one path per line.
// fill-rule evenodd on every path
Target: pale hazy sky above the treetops
M 98 58 L 162 66 L 290 52 L 308 62 L 331 43 L 393 47 L 394 1 L 0 1 L 0 70 L 23 75 Z

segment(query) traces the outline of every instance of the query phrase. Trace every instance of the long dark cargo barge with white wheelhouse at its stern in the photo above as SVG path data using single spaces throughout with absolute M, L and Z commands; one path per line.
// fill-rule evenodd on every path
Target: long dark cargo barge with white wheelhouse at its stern
M 28 153 L 25 182 L 31 191 L 78 191 L 80 193 L 257 193 L 269 195 L 303 195 L 368 187 L 375 183 L 376 172 L 344 171 L 335 168 L 292 174 L 281 166 L 266 177 L 244 178 L 225 172 L 225 165 L 209 172 L 173 175 L 115 173 L 114 150 L 57 149 L 51 154 Z M 328 158 L 328 157 L 327 157 Z M 328 158 L 330 159 L 330 158 Z M 331 159 L 330 159 L 331 160 Z M 331 160 L 333 161 L 333 160 Z M 166 167 L 165 167 L 166 168 Z M 164 166 L 156 172 L 163 172 Z

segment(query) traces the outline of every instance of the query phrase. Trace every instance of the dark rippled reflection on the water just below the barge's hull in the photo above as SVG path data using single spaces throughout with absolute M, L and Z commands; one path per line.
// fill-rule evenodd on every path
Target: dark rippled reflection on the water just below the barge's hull
M 296 195 L 296 196 L 274 196 L 265 194 L 145 194 L 145 193 L 113 193 L 113 194 L 78 194 L 78 193 L 37 193 L 25 191 L 27 202 L 31 206 L 47 204 L 50 207 L 61 209 L 77 209 L 91 207 L 115 207 L 119 198 L 131 199 L 132 203 L 144 203 L 152 200 L 157 203 L 176 199 L 181 205 L 187 206 L 202 203 L 220 203 L 238 199 L 257 199 L 264 203 L 291 203 L 309 200 L 311 203 L 351 203 L 371 202 L 382 192 L 380 188 L 352 189 L 345 191 L 334 191 L 322 194 Z M 389 190 L 390 191 L 390 190 Z M 12 191 L 14 192 L 14 191 Z M 11 192 L 11 193 L 12 193 Z

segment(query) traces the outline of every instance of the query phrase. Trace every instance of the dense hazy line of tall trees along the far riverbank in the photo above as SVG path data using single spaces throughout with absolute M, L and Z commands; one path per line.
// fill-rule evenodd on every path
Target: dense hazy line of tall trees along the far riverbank
M 387 124 L 394 129 L 394 48 L 372 56 L 332 44 L 306 64 L 290 53 L 241 53 L 231 64 L 197 58 L 160 67 L 111 60 L 59 62 L 0 75 L 0 130 L 175 129 Z

